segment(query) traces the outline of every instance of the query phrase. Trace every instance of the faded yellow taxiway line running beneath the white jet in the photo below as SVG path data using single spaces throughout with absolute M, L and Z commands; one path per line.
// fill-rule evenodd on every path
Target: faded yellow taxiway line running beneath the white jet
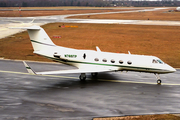
M 1 73 L 13 73 L 13 74 L 32 75 L 32 74 L 29 74 L 29 73 L 14 72 L 14 71 L 3 71 L 3 70 L 0 70 L 0 72 L 1 72 Z M 66 77 L 66 76 L 57 76 L 57 75 L 36 75 L 36 76 L 46 76 L 46 77 L 56 77 L 56 78 L 79 79 L 78 77 Z M 138 82 L 138 81 L 105 80 L 105 79 L 98 79 L 98 81 L 118 82 L 118 83 L 138 83 L 138 84 L 157 85 L 156 82 Z M 173 83 L 161 83 L 161 85 L 180 86 L 180 84 L 173 84 Z

